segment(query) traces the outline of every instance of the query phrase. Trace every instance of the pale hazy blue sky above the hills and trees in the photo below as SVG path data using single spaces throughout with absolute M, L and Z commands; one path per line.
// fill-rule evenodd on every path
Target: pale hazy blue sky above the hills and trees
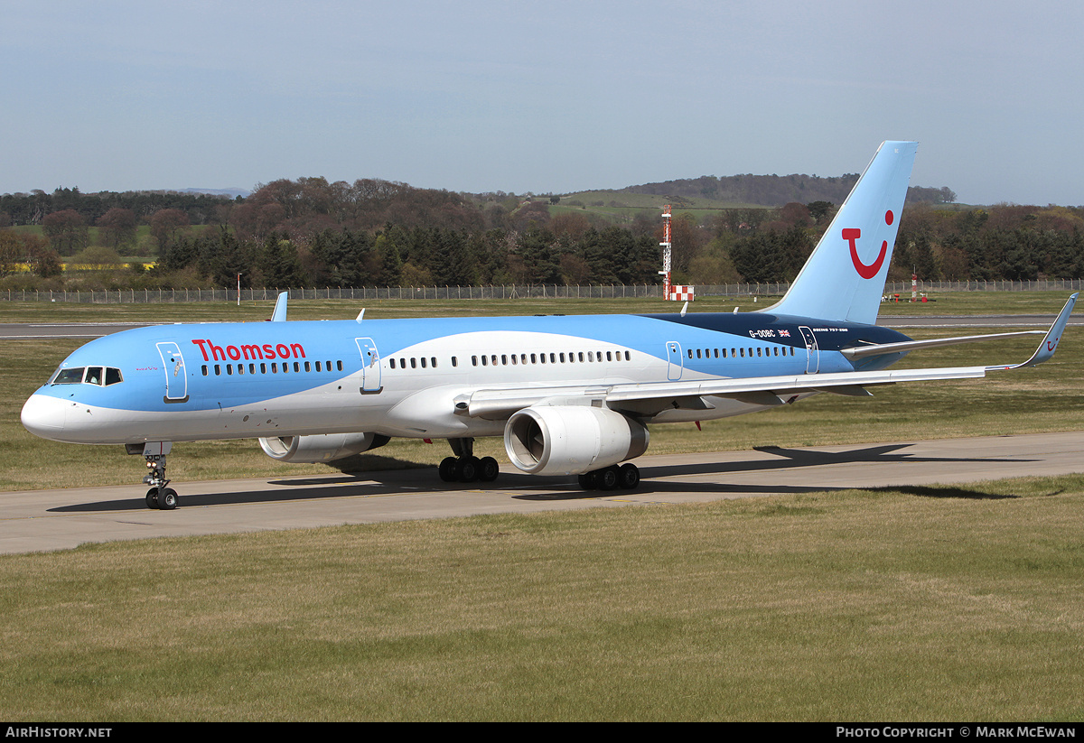
M 0 193 L 861 172 L 1084 205 L 1079 0 L 0 0 Z

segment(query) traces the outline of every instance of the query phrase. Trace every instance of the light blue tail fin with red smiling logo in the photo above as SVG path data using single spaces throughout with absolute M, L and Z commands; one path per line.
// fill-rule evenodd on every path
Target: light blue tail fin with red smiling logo
M 917 142 L 883 142 L 790 290 L 763 310 L 874 324 Z

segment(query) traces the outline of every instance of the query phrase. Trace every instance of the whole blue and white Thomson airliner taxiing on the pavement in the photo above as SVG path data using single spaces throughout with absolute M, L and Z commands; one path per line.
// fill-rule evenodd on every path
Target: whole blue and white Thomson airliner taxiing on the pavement
M 149 508 L 171 510 L 173 442 L 258 439 L 273 459 L 327 462 L 393 436 L 447 439 L 446 482 L 492 482 L 474 456 L 503 436 L 512 464 L 634 488 L 648 425 L 764 410 L 822 392 L 983 377 L 1054 355 L 1066 302 L 1019 364 L 889 370 L 911 351 L 1042 330 L 912 340 L 878 327 L 917 142 L 885 142 L 789 290 L 758 312 L 595 316 L 286 320 L 175 324 L 90 341 L 26 401 L 23 426 L 53 441 L 142 455 Z

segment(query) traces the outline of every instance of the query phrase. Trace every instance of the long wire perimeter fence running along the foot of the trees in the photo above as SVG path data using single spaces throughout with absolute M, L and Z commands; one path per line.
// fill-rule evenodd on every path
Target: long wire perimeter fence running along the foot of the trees
M 939 291 L 1080 291 L 1084 279 L 1043 278 L 1031 282 L 918 282 L 919 294 Z M 786 294 L 788 283 L 695 285 L 696 297 L 778 297 Z M 889 282 L 886 297 L 911 296 L 911 282 Z M 304 299 L 661 299 L 662 287 L 653 284 L 608 284 L 595 286 L 564 285 L 494 285 L 494 286 L 392 286 L 392 287 L 323 287 L 298 289 L 242 289 L 241 301 L 273 301 L 288 291 L 291 300 Z M 222 289 L 112 289 L 99 291 L 50 291 L 5 289 L 0 301 L 13 302 L 79 302 L 95 304 L 133 304 L 162 302 L 236 302 L 237 290 Z M 694 300 L 695 301 L 695 300 Z

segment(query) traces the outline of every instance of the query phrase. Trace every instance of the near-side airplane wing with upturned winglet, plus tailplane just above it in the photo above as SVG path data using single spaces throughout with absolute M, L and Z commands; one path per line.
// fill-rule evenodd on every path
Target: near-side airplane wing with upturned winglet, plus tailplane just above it
M 644 415 L 654 415 L 666 409 L 711 409 L 714 407 L 708 397 L 731 397 L 752 405 L 783 405 L 791 402 L 795 395 L 810 392 L 833 392 L 851 396 L 868 396 L 867 387 L 894 384 L 896 382 L 933 381 L 940 379 L 976 379 L 986 376 L 986 372 L 1016 369 L 1041 364 L 1054 355 L 1058 340 L 1061 338 L 1079 295 L 1074 294 L 1066 302 L 1057 320 L 1046 331 L 1043 342 L 1031 359 L 1021 364 L 996 366 L 962 366 L 925 369 L 883 369 L 878 372 L 839 372 L 829 374 L 784 375 L 774 377 L 746 377 L 736 379 L 708 379 L 691 381 L 669 381 L 651 383 L 618 383 L 577 387 L 532 387 L 515 389 L 477 390 L 463 393 L 455 397 L 455 410 L 460 415 L 472 418 L 481 417 L 500 420 L 511 416 L 516 410 L 538 403 L 555 404 L 605 404 L 615 409 L 628 409 Z M 1029 330 L 1024 333 L 995 334 L 993 336 L 968 336 L 956 339 L 942 339 L 955 342 L 968 342 L 971 339 L 1004 338 L 1006 336 L 1042 333 Z M 929 348 L 929 341 L 915 341 L 918 346 L 904 343 L 886 343 L 876 353 L 896 353 L 913 348 Z M 933 346 L 943 344 L 937 341 Z M 909 347 L 907 349 L 901 347 Z M 866 347 L 857 349 L 866 351 Z M 846 354 L 846 352 L 844 352 Z M 852 354 L 853 357 L 876 355 L 874 353 Z

